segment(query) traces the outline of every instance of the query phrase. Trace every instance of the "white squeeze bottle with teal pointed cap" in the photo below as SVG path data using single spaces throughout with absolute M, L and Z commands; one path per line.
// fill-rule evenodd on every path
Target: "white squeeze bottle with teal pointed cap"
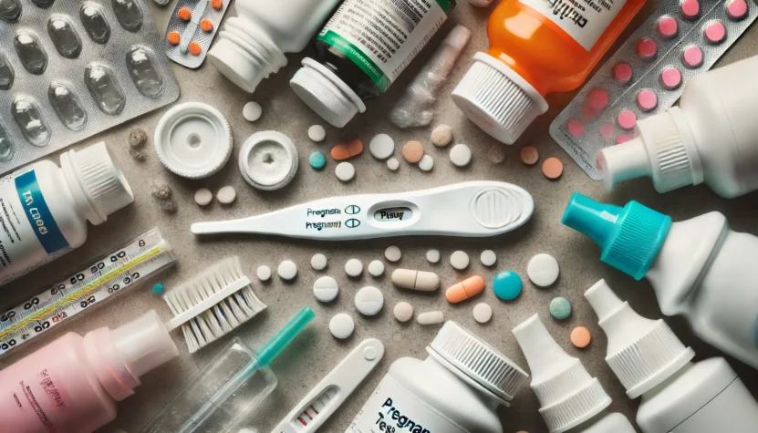
M 711 212 L 685 222 L 637 201 L 620 208 L 574 193 L 563 223 L 600 245 L 600 259 L 647 277 L 663 314 L 683 314 L 695 334 L 758 368 L 758 238 Z

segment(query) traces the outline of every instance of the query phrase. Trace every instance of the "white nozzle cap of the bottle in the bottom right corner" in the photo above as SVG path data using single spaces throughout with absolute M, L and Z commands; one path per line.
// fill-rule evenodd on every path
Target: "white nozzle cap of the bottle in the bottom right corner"
M 663 320 L 646 319 L 600 280 L 585 292 L 608 339 L 606 362 L 637 398 L 686 366 L 695 356 Z

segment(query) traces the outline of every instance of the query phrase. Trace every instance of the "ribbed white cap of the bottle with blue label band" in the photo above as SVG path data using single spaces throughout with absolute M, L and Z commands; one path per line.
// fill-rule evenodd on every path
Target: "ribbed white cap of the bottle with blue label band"
M 72 193 L 86 203 L 87 219 L 95 225 L 134 201 L 134 193 L 104 142 L 60 156 Z

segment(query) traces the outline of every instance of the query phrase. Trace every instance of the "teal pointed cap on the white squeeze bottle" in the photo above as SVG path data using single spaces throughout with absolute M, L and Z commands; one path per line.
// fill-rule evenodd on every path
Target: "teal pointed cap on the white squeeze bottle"
M 620 208 L 578 192 L 561 220 L 600 246 L 600 260 L 637 280 L 648 273 L 671 229 L 671 217 L 637 201 Z

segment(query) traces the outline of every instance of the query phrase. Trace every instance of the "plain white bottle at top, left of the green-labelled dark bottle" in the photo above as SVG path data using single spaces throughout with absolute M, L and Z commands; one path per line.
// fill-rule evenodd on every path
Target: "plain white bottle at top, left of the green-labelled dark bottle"
M 223 25 L 208 57 L 244 91 L 287 64 L 286 53 L 303 51 L 339 0 L 240 0 L 237 16 Z

